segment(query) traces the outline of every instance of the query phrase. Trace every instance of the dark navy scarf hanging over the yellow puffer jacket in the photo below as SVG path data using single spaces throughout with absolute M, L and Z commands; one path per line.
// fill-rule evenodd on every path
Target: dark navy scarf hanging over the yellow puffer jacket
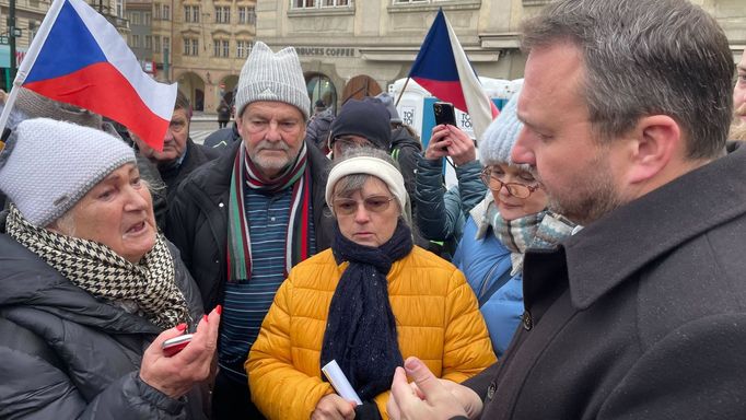
M 394 370 L 404 365 L 386 276 L 411 249 L 411 231 L 401 220 L 392 238 L 377 248 L 355 244 L 335 226 L 335 259 L 350 265 L 329 305 L 322 366 L 336 360 L 362 400 L 388 390 Z

